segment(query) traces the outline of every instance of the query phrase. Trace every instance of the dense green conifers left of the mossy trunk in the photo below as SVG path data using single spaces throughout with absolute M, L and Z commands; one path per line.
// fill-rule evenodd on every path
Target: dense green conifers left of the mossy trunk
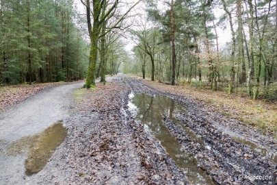
M 1 0 L 0 83 L 82 79 L 88 42 L 73 0 Z

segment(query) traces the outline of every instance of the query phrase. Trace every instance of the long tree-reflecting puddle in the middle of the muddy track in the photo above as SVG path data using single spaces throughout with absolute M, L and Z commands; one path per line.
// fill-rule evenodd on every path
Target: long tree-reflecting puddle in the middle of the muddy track
M 174 117 L 174 114 L 185 112 L 185 106 L 161 95 L 153 97 L 145 94 L 136 94 L 129 95 L 129 97 L 131 97 L 131 101 L 128 103 L 129 109 L 136 110 L 136 119 L 142 121 L 144 127 L 153 132 L 155 138 L 161 142 L 161 145 L 174 162 L 187 172 L 187 180 L 191 184 L 215 184 L 207 174 L 198 169 L 193 158 L 181 150 L 181 145 L 162 123 L 162 115 L 168 115 L 174 123 L 181 125 L 189 136 L 198 139 L 201 143 L 202 140 L 200 140 L 199 136 L 179 123 Z

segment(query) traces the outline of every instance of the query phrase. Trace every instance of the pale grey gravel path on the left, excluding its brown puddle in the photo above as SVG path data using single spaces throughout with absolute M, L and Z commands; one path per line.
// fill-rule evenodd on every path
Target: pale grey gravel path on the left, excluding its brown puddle
M 22 184 L 25 173 L 25 156 L 6 154 L 11 143 L 66 119 L 72 91 L 82 85 L 83 82 L 48 88 L 23 103 L 0 112 L 0 184 Z

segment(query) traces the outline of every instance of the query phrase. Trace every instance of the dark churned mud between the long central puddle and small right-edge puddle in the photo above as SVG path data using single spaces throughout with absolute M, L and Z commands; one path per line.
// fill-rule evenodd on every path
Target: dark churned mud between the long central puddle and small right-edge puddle
M 168 117 L 165 117 L 164 124 L 178 138 L 185 151 L 194 156 L 198 167 L 207 171 L 213 180 L 219 184 L 274 184 L 273 180 L 271 182 L 262 180 L 250 182 L 250 180 L 239 179 L 240 175 L 271 175 L 274 177 L 276 164 L 263 159 L 249 147 L 237 143 L 215 127 L 197 119 L 187 121 L 186 117 L 179 115 L 178 119 L 200 135 L 204 144 L 189 137 L 182 127 L 176 125 Z

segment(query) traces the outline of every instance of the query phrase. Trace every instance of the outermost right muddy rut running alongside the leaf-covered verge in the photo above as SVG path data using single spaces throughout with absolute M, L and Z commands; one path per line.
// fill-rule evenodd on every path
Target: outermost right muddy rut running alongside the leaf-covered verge
M 239 140 L 246 140 L 246 143 L 248 143 L 249 141 L 250 143 L 257 145 L 260 149 L 265 149 L 271 151 L 271 153 L 276 153 L 275 161 L 277 161 L 276 139 L 262 135 L 259 132 L 252 130 L 251 127 L 247 126 L 241 121 L 230 119 L 228 118 L 228 116 L 210 111 L 197 99 L 183 97 L 174 93 L 163 92 L 161 90 L 153 88 L 152 86 L 149 86 L 148 84 L 145 84 L 144 82 L 142 82 L 141 79 L 132 78 L 125 80 L 128 81 L 129 84 L 131 84 L 129 86 L 131 86 L 131 88 L 135 90 L 135 93 L 146 93 L 148 95 L 164 95 L 166 97 L 170 97 L 175 101 L 187 106 L 187 108 L 189 110 L 192 110 L 192 112 L 195 112 L 197 116 L 200 116 L 203 119 L 209 121 L 209 123 L 214 125 L 218 130 L 224 132 L 225 134 L 228 134 L 234 138 L 238 138 Z M 136 85 L 132 83 L 136 83 Z

